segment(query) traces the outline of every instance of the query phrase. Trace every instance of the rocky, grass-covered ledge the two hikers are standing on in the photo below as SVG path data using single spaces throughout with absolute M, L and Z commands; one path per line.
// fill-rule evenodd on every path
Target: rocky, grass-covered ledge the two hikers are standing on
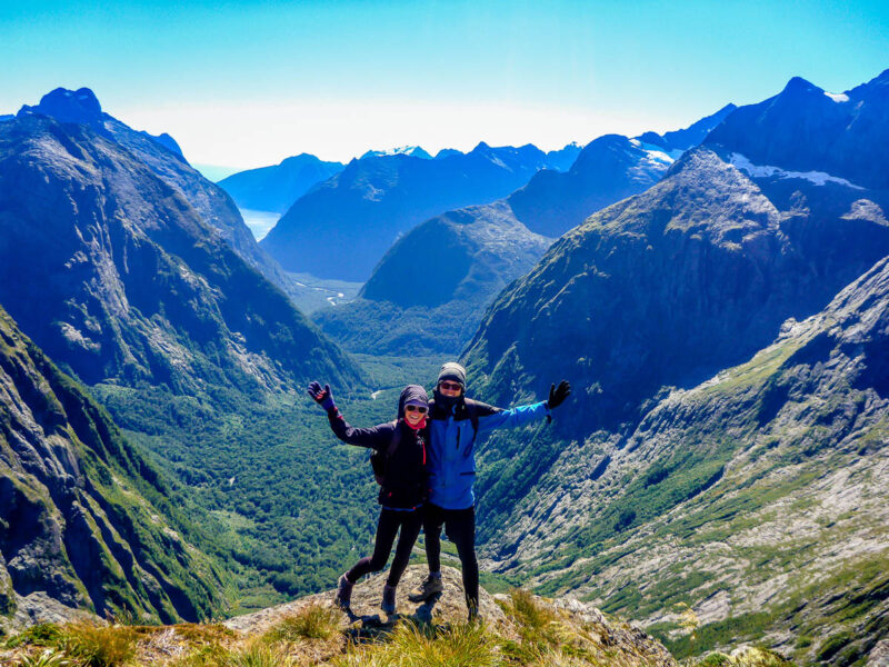
M 416 585 L 423 574 L 419 567 L 409 568 L 404 586 Z M 482 590 L 485 620 L 467 625 L 460 575 L 452 568 L 443 568 L 442 575 L 443 595 L 420 606 L 399 600 L 399 613 L 392 617 L 376 609 L 384 579 L 384 575 L 378 575 L 357 587 L 352 614 L 332 608 L 333 591 L 328 591 L 238 617 L 224 625 L 116 627 L 98 631 L 82 625 L 62 626 L 46 631 L 51 636 L 43 640 L 49 649 L 33 646 L 27 637 L 17 638 L 13 639 L 17 648 L 0 649 L 0 659 L 13 660 L 16 665 L 16 660 L 38 656 L 41 650 L 48 651 L 47 658 L 57 656 L 57 660 L 77 657 L 83 636 L 100 636 L 106 643 L 116 639 L 118 647 L 127 646 L 129 664 L 136 665 L 677 665 L 661 644 L 639 628 L 577 599 L 543 599 L 526 591 L 491 596 Z M 66 637 L 68 644 L 63 645 Z M 777 656 L 769 658 L 718 664 L 785 665 Z

